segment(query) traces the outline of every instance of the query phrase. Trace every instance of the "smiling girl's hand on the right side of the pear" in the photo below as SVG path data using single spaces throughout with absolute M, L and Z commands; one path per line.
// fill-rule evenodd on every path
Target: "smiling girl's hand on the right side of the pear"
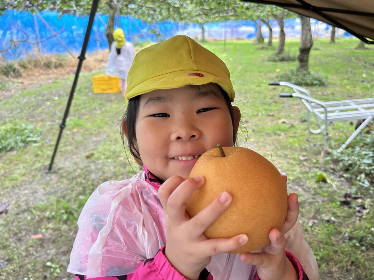
M 282 176 L 286 182 L 287 177 Z M 273 228 L 269 233 L 270 243 L 261 249 L 260 253 L 242 253 L 240 259 L 248 264 L 256 265 L 257 274 L 261 280 L 266 279 L 298 279 L 296 271 L 286 257 L 286 239 L 284 234 L 289 231 L 297 221 L 299 205 L 297 194 L 288 196 L 288 209 L 285 223 L 281 231 Z

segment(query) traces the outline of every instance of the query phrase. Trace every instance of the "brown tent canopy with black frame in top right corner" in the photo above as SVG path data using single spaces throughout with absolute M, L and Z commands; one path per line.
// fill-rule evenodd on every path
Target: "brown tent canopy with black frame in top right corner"
M 273 4 L 309 18 L 344 29 L 374 44 L 374 0 L 242 0 Z M 372 39 L 372 40 L 368 40 Z

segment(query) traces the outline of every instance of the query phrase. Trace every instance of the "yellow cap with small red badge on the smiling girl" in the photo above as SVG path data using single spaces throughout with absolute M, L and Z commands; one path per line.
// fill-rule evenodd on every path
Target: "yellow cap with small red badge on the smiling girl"
M 127 76 L 126 104 L 152 90 L 208 83 L 220 85 L 234 101 L 225 63 L 190 37 L 177 35 L 137 53 Z

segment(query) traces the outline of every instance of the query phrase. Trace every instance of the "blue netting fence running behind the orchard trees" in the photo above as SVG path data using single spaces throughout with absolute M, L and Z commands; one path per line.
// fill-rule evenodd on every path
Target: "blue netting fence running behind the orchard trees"
M 107 15 L 96 14 L 90 35 L 87 52 L 108 49 L 105 37 Z M 15 60 L 33 55 L 54 53 L 77 54 L 82 48 L 83 38 L 88 23 L 88 16 L 59 15 L 56 12 L 43 11 L 31 14 L 7 10 L 0 17 L 0 55 L 6 60 Z M 279 34 L 276 21 L 271 21 L 273 36 Z M 185 34 L 200 39 L 202 29 L 199 24 L 164 21 L 155 25 L 139 19 L 120 16 L 120 25 L 126 34 L 126 40 L 156 42 L 177 34 Z M 328 37 L 331 26 L 311 19 L 314 37 Z M 115 27 L 118 27 L 117 19 Z M 252 39 L 256 36 L 257 27 L 253 21 L 226 21 L 204 25 L 205 38 L 208 40 Z M 155 35 L 156 30 L 159 36 Z M 265 25 L 261 28 L 267 38 L 269 31 Z M 300 36 L 300 19 L 285 20 L 286 38 Z M 352 37 L 342 29 L 337 29 L 337 37 Z M 39 43 L 38 43 L 39 42 Z

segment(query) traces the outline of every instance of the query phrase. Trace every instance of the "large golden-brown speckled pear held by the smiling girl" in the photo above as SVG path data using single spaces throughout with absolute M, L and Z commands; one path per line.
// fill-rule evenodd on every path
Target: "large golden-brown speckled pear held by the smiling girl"
M 228 238 L 247 234 L 248 242 L 230 253 L 245 253 L 267 245 L 269 232 L 281 229 L 287 213 L 287 190 L 275 166 L 258 153 L 242 147 L 205 152 L 190 177 L 203 175 L 204 185 L 186 203 L 190 217 L 209 205 L 220 193 L 232 195 L 229 208 L 204 231 L 206 237 Z

